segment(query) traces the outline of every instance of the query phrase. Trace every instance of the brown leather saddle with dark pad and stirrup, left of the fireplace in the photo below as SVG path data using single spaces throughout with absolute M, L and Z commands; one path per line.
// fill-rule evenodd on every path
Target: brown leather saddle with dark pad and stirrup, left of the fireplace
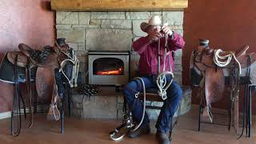
M 69 46 L 65 43 L 62 47 L 45 46 L 43 50 L 33 50 L 30 46 L 21 43 L 18 48 L 20 51 L 10 51 L 3 59 L 0 79 L 10 83 L 26 82 L 27 91 L 30 95 L 30 126 L 33 125 L 31 82 L 35 82 L 39 99 L 45 101 L 51 98 L 52 104 L 47 118 L 58 120 L 60 113 L 56 105 L 59 97 L 55 69 L 60 69 L 62 60 L 67 59 L 65 54 L 68 54 Z M 65 54 L 62 54 L 63 51 Z M 8 72 L 6 73 L 5 70 Z M 18 75 L 18 79 L 14 78 L 15 74 Z

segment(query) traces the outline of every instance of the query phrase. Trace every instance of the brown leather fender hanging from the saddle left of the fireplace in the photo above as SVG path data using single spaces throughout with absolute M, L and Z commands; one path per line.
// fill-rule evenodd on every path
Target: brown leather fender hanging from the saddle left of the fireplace
M 38 67 L 35 79 L 38 98 L 43 98 L 43 100 L 52 98 L 55 85 L 54 77 L 54 69 L 52 67 Z

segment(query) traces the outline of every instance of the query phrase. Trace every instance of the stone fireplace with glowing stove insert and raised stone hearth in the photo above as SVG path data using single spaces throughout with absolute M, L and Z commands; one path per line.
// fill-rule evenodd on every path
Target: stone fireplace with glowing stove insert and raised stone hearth
M 170 28 L 183 35 L 183 10 L 173 11 L 108 11 L 108 12 L 65 12 L 57 11 L 56 29 L 57 38 L 66 38 L 66 42 L 77 50 L 80 60 L 79 80 L 82 83 L 115 85 L 125 84 L 127 77 L 118 78 L 125 74 L 134 78 L 138 70 L 139 55 L 132 49 L 131 44 L 136 39 L 146 36 L 146 33 L 140 30 L 141 22 L 147 22 L 151 15 L 159 15 L 162 22 L 169 24 Z M 100 52 L 99 57 L 95 57 L 95 51 Z M 113 53 L 122 53 L 129 51 L 121 57 L 116 57 Z M 107 54 L 104 54 L 104 53 Z M 111 56 L 112 55 L 112 56 Z M 113 57 L 114 56 L 114 57 Z M 130 57 L 130 58 L 129 58 Z M 130 59 L 130 62 L 126 60 Z M 94 65 L 103 62 L 104 66 L 99 66 L 98 71 L 106 72 L 121 66 L 130 65 L 130 70 L 121 70 L 121 74 L 97 74 Z M 106 62 L 114 61 L 114 62 Z M 96 62 L 96 64 L 94 64 Z M 113 69 L 114 68 L 114 69 Z M 88 74 L 87 74 L 88 72 Z M 127 74 L 129 73 L 129 74 Z M 93 76 L 96 76 L 93 78 Z M 89 76 L 89 77 L 88 77 Z M 115 78 L 113 78 L 113 76 Z M 97 77 L 108 77 L 102 82 L 95 82 Z M 174 78 L 182 84 L 182 50 L 175 52 Z M 114 82 L 113 82 L 114 79 Z M 122 82 L 119 80 L 122 79 Z M 95 95 L 90 98 L 82 98 L 81 95 L 74 95 L 74 114 L 82 118 L 116 118 L 122 109 L 122 93 L 115 93 L 112 88 L 102 88 L 102 95 Z M 182 114 L 190 110 L 191 92 L 184 93 L 186 97 L 182 99 Z M 107 98 L 106 98 L 107 97 Z M 152 103 L 154 105 L 154 103 Z M 158 105 L 158 104 L 157 104 Z M 94 113 L 92 112 L 94 110 Z M 119 110 L 119 112 L 118 112 Z M 150 112 L 151 111 L 151 112 Z M 148 111 L 150 118 L 157 118 L 159 110 Z M 120 118 L 120 117 L 119 117 Z

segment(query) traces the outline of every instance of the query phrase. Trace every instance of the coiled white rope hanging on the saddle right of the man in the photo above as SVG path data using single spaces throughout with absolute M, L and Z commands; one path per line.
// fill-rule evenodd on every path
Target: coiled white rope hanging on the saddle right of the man
M 235 62 L 238 63 L 238 69 L 239 69 L 239 74 L 241 74 L 241 64 L 238 62 L 238 59 L 235 57 L 234 52 L 230 51 L 228 52 L 229 54 L 226 54 L 224 56 L 219 55 L 222 52 L 221 49 L 214 50 L 214 63 L 217 66 L 224 67 L 230 64 L 232 57 L 234 58 Z M 220 61 L 222 60 L 222 61 Z

